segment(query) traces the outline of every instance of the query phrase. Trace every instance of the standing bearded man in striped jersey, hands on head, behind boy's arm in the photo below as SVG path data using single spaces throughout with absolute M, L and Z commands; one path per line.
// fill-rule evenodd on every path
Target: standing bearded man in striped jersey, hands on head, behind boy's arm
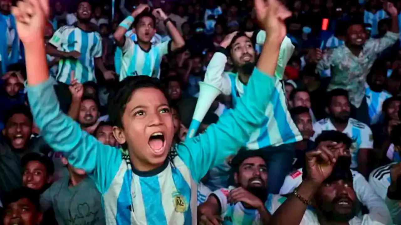
M 227 35 L 207 66 L 205 83 L 219 88 L 225 95 L 231 95 L 234 106 L 246 92 L 248 80 L 255 67 L 254 43 L 261 44 L 265 36 L 263 30 L 250 33 L 233 32 Z M 275 70 L 275 91 L 265 111 L 264 125 L 253 132 L 250 140 L 244 143 L 247 149 L 263 149 L 268 155 L 269 192 L 273 194 L 279 192 L 284 178 L 292 169 L 293 143 L 302 140 L 287 110 L 282 80 L 285 66 L 293 51 L 294 45 L 291 40 L 288 37 L 284 38 Z M 228 59 L 233 62 L 236 73 L 225 72 Z

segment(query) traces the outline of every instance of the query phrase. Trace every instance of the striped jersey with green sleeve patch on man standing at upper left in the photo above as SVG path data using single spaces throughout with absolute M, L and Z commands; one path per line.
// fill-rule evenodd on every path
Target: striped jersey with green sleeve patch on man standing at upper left
M 102 56 L 101 36 L 98 32 L 86 32 L 75 26 L 63 26 L 56 30 L 49 43 L 63 52 L 77 51 L 79 59 L 61 58 L 56 79 L 65 84 L 70 83 L 71 71 L 81 84 L 87 81 L 96 82 L 95 58 Z

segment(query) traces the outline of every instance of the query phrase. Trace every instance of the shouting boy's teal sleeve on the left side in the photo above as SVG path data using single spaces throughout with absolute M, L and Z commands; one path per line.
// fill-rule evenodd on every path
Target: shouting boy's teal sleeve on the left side
M 54 151 L 63 153 L 73 167 L 84 169 L 104 193 L 122 163 L 121 151 L 101 144 L 61 112 L 50 79 L 27 89 L 32 115 L 43 139 Z

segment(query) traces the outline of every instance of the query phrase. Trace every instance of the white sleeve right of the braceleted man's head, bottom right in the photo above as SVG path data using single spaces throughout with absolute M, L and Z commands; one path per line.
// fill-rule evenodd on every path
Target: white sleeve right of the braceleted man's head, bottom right
M 369 217 L 383 224 L 391 222 L 390 211 L 360 173 L 355 173 L 354 190 L 359 201 L 369 209 Z

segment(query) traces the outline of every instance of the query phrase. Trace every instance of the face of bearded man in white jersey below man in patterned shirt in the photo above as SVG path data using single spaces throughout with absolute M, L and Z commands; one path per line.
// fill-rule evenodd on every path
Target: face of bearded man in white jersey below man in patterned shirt
M 330 104 L 330 116 L 334 121 L 347 123 L 350 118 L 350 104 L 346 96 L 334 96 Z

